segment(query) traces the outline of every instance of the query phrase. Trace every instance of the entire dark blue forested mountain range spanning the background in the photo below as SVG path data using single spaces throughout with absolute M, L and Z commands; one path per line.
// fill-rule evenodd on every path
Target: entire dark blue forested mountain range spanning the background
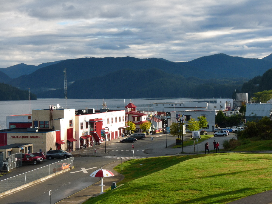
M 244 82 L 272 68 L 272 54 L 262 59 L 216 54 L 189 62 L 105 57 L 18 64 L 0 68 L 0 82 L 30 87 L 38 98 L 64 98 L 64 67 L 68 98 L 231 97 Z

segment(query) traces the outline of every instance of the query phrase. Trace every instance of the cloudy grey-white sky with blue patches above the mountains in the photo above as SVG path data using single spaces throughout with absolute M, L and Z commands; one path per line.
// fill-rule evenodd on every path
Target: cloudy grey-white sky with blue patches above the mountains
M 0 0 L 0 67 L 272 53 L 272 0 Z

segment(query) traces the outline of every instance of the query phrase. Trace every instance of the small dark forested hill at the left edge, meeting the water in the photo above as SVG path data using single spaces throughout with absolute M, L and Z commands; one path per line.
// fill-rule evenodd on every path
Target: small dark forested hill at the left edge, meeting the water
M 30 93 L 30 99 L 36 100 L 35 94 Z M 29 91 L 20 90 L 8 84 L 0 83 L 0 101 L 29 100 Z

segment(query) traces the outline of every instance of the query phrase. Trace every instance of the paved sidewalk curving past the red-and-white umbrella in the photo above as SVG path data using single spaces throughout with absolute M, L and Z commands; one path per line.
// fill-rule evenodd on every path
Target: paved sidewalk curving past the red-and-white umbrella
M 121 180 L 123 180 L 124 177 L 122 177 L 121 174 L 119 174 L 117 171 L 113 170 L 115 166 L 117 166 L 120 163 L 120 161 L 115 161 L 112 163 L 109 163 L 105 166 L 103 166 L 103 169 L 107 169 L 111 171 L 114 176 L 113 177 L 105 177 L 103 179 L 103 191 L 105 191 L 107 188 L 110 188 L 112 185 L 112 182 L 118 183 Z M 88 186 L 87 188 L 82 189 L 81 191 L 78 191 L 75 194 L 70 195 L 67 198 L 64 198 L 63 200 L 57 202 L 58 204 L 81 204 L 84 201 L 88 200 L 90 197 L 95 197 L 100 195 L 101 192 L 101 180 L 97 183 Z

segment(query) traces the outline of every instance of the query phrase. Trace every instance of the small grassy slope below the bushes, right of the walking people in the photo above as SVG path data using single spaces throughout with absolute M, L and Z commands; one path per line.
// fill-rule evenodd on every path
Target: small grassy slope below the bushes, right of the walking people
M 222 147 L 223 148 L 223 147 Z M 258 140 L 236 147 L 227 151 L 265 151 L 272 150 L 272 140 Z

